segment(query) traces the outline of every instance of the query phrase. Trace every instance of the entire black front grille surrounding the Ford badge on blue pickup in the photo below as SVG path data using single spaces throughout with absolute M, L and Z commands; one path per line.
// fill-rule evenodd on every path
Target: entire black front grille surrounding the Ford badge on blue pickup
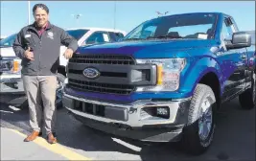
M 105 65 L 108 67 L 111 65 L 121 65 L 122 67 L 128 67 L 128 65 L 134 65 L 135 61 L 130 56 L 122 55 L 81 55 L 75 54 L 69 59 L 68 69 L 68 86 L 77 90 L 85 92 L 98 92 L 108 94 L 121 94 L 128 95 L 134 89 L 135 85 L 129 85 L 122 81 L 112 83 L 118 79 L 128 79 L 128 73 L 118 72 L 115 70 L 106 70 Z M 97 80 L 86 80 L 85 78 L 79 78 L 82 76 L 82 71 L 87 66 L 101 67 L 101 76 Z M 115 67 L 113 67 L 115 69 Z M 72 75 L 72 76 L 71 76 Z M 112 81 L 101 81 L 105 78 L 112 78 Z

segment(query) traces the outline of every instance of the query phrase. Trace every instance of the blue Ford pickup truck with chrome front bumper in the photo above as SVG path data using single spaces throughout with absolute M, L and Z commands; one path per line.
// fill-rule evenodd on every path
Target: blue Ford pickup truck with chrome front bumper
M 222 12 L 148 20 L 119 42 L 79 48 L 66 71 L 62 103 L 86 126 L 193 154 L 210 147 L 221 104 L 256 104 L 255 46 Z

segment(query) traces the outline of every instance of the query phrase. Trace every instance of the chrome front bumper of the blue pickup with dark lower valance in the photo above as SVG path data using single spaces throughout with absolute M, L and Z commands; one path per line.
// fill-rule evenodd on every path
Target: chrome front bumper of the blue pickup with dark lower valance
M 187 123 L 190 102 L 191 98 L 170 102 L 141 100 L 131 104 L 109 104 L 66 93 L 62 97 L 63 106 L 86 126 L 121 137 L 151 142 L 179 140 L 182 128 Z M 147 112 L 147 109 L 156 107 L 168 107 L 170 117 L 160 118 Z

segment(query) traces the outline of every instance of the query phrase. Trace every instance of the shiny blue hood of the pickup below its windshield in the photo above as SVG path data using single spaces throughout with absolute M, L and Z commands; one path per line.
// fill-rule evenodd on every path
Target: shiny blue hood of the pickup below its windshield
M 182 49 L 195 49 L 211 47 L 214 40 L 201 39 L 178 39 L 178 40 L 148 40 L 148 41 L 123 41 L 114 43 L 105 43 L 89 47 L 81 47 L 78 53 L 81 54 L 119 54 L 130 55 L 134 58 L 151 58 L 151 53 L 157 57 L 165 57 L 164 53 L 180 51 Z M 162 56 L 158 55 L 158 53 Z

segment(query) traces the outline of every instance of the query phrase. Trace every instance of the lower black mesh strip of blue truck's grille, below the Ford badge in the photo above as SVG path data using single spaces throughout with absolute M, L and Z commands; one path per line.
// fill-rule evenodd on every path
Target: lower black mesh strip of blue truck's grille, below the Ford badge
M 123 95 L 128 95 L 135 88 L 134 85 L 110 84 L 110 83 L 101 83 L 101 82 L 93 82 L 93 81 L 80 81 L 80 80 L 74 80 L 74 79 L 68 80 L 68 86 L 71 88 L 76 88 L 81 91 L 123 94 Z

